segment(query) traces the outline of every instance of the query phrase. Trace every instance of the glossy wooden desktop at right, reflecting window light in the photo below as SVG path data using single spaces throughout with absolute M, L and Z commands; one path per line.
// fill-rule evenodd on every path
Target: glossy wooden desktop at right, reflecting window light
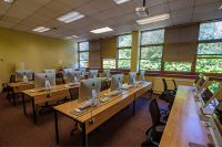
M 199 118 L 200 104 L 191 86 L 180 85 L 163 132 L 160 147 L 189 147 L 189 143 L 210 143 L 208 127 Z

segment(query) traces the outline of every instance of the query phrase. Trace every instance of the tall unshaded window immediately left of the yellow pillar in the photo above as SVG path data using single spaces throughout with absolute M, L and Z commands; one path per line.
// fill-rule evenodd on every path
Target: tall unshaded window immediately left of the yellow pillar
M 132 34 L 118 38 L 118 69 L 131 67 Z

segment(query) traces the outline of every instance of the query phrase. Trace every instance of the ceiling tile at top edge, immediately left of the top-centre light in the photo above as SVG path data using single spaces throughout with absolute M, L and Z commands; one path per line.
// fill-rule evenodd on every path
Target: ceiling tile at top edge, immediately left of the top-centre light
M 100 11 L 103 11 L 117 6 L 112 0 L 92 0 L 90 1 L 90 4 L 92 4 Z

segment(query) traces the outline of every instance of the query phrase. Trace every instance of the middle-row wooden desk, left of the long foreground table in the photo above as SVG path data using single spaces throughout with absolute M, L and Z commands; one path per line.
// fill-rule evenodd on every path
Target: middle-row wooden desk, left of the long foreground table
M 29 91 L 22 91 L 24 115 L 27 115 L 26 104 L 24 104 L 24 94 L 27 96 L 31 97 L 34 124 L 37 124 L 36 105 L 37 105 L 37 114 L 39 115 L 39 109 L 38 109 L 39 104 L 50 102 L 50 101 L 54 101 L 54 99 L 59 99 L 59 98 L 62 98 L 62 97 L 65 97 L 65 96 L 70 96 L 69 88 L 64 87 L 64 85 L 65 84 L 52 86 L 51 91 L 46 91 L 46 92 L 30 93 Z M 79 87 L 79 85 L 78 86 L 71 86 L 70 88 L 73 88 L 73 87 Z M 40 90 L 44 90 L 44 87 L 33 88 L 33 90 L 40 91 Z

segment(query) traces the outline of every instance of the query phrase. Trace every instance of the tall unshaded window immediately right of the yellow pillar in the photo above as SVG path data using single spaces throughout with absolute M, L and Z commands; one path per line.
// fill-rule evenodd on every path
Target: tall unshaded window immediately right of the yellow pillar
M 140 70 L 161 71 L 164 29 L 142 32 Z

